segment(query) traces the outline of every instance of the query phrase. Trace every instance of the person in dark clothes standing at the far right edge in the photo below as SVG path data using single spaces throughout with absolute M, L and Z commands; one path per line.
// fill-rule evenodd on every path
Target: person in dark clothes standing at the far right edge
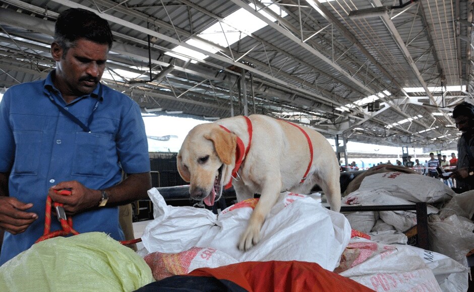
M 453 119 L 462 134 L 457 142 L 457 169 L 451 178 L 461 191 L 468 191 L 474 189 L 474 106 L 467 102 L 457 105 Z

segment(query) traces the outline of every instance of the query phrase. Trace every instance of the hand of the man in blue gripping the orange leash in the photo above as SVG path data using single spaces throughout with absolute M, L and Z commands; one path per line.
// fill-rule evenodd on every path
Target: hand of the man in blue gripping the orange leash
M 61 195 L 54 190 L 68 189 L 71 195 Z M 64 210 L 68 215 L 80 213 L 86 209 L 97 207 L 102 198 L 99 190 L 86 188 L 78 181 L 64 181 L 49 188 L 48 195 L 54 202 L 64 204 Z

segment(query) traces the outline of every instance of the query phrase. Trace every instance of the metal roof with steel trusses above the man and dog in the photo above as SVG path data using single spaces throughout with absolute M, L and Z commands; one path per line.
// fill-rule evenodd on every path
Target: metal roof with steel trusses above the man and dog
M 0 0 L 0 87 L 44 78 L 54 67 L 49 44 L 55 19 L 80 7 L 106 19 L 114 35 L 110 78 L 103 82 L 131 96 L 143 112 L 202 119 L 261 113 L 328 137 L 454 148 L 458 131 L 450 112 L 462 101 L 474 103 L 473 3 L 412 1 L 376 17 L 350 19 L 351 11 L 402 1 Z M 267 26 L 241 31 L 241 39 L 227 46 L 199 35 L 239 9 Z M 166 54 L 177 46 L 208 57 Z M 465 90 L 447 90 L 455 86 Z M 424 91 L 404 90 L 412 87 Z M 372 95 L 381 104 L 375 111 L 359 103 Z

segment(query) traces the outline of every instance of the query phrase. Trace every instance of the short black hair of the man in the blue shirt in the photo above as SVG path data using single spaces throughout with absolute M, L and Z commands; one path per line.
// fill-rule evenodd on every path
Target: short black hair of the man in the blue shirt
M 112 47 L 112 31 L 106 20 L 92 11 L 71 8 L 57 18 L 54 26 L 54 41 L 67 50 L 79 39 L 87 39 Z

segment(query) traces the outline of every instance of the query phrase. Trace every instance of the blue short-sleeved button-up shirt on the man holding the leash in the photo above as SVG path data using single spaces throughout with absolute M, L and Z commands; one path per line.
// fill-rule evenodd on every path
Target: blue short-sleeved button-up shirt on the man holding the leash
M 0 103 L 0 172 L 11 172 L 10 196 L 33 203 L 27 211 L 38 215 L 25 232 L 5 233 L 0 265 L 30 248 L 43 235 L 49 187 L 76 180 L 90 189 L 104 189 L 122 180 L 122 170 L 127 174 L 150 171 L 145 125 L 138 104 L 102 84 L 90 95 L 66 104 L 53 86 L 53 74 L 54 70 L 45 80 L 11 87 Z M 84 124 L 93 113 L 90 132 L 60 112 L 49 97 Z M 124 240 L 118 207 L 76 214 L 73 228 L 79 233 L 101 231 Z M 51 232 L 61 229 L 53 217 Z

